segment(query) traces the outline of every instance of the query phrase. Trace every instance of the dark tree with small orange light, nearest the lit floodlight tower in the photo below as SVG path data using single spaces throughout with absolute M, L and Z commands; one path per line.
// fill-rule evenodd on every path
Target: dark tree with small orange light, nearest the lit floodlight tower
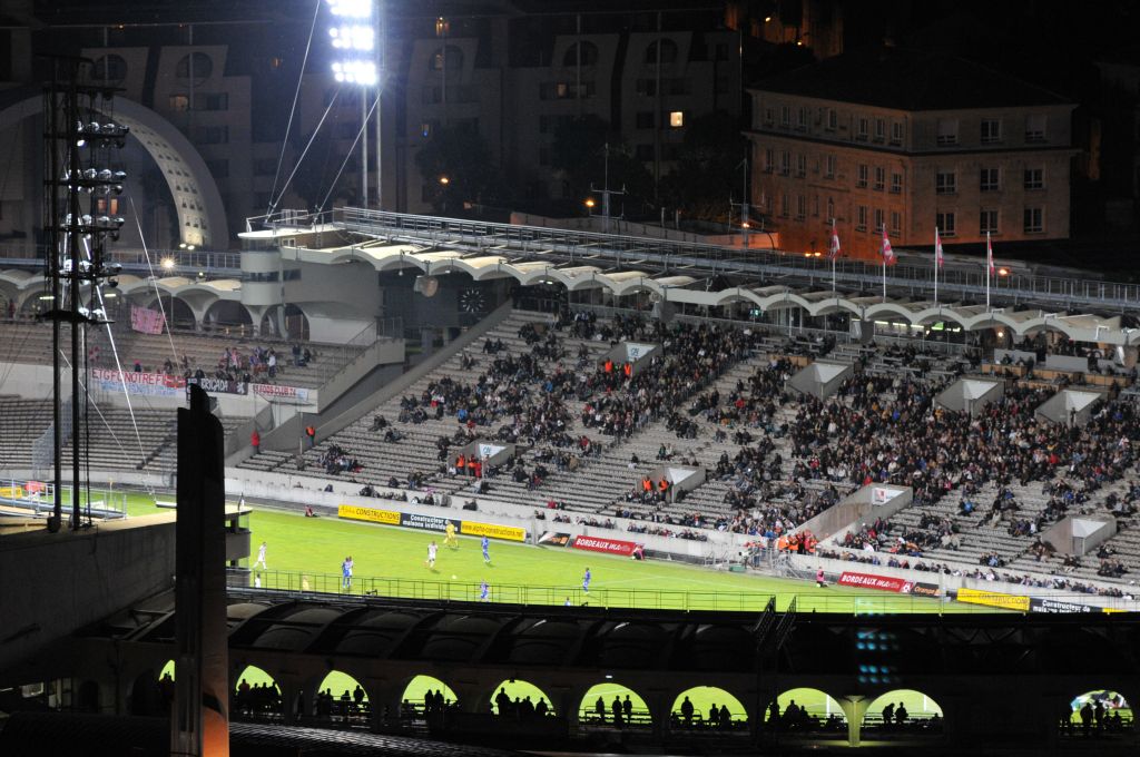
M 456 212 L 464 202 L 494 204 L 508 195 L 487 143 L 475 129 L 448 125 L 434 130 L 416 153 L 416 168 L 427 186 L 429 202 Z

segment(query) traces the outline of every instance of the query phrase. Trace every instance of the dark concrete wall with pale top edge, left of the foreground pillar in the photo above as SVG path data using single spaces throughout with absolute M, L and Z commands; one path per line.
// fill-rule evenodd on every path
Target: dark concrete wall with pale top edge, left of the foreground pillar
M 0 685 L 18 685 L 5 678 L 15 664 L 34 668 L 47 644 L 171 588 L 174 515 L 6 536 L 0 576 Z

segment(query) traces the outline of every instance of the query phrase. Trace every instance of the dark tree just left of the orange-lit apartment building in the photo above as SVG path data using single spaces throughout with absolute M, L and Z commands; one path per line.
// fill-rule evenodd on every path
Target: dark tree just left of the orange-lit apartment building
M 666 203 L 687 218 L 724 221 L 728 197 L 741 202 L 742 161 L 748 140 L 735 116 L 718 111 L 692 120 L 685 129 L 677 165 L 661 181 Z

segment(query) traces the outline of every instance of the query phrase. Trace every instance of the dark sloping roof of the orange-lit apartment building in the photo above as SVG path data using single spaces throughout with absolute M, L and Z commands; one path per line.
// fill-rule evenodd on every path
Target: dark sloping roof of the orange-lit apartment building
M 901 111 L 1061 105 L 1066 98 L 951 55 L 864 48 L 769 76 L 750 89 Z

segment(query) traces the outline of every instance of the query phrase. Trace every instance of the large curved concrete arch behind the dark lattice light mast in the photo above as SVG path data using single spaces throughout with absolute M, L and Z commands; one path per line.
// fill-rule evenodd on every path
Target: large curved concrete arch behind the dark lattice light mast
M 42 112 L 42 93 L 9 100 L 0 109 L 0 131 Z M 194 145 L 174 124 L 125 97 L 115 97 L 112 117 L 130 127 L 130 137 L 139 141 L 162 171 L 178 213 L 182 242 L 199 247 L 228 247 L 229 227 L 221 193 Z M 127 181 L 130 186 L 131 177 Z

